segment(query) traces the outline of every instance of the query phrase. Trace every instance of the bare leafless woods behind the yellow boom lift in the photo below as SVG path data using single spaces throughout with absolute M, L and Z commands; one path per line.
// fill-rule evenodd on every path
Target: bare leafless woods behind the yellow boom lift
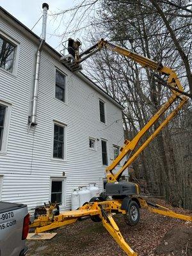
M 163 63 L 177 72 L 185 92 L 191 97 L 191 1 L 86 0 L 69 11 L 72 20 L 74 17 L 79 20 L 76 31 L 86 27 L 84 40 L 87 45 L 104 38 Z M 77 12 L 81 13 L 79 17 Z M 82 19 L 86 19 L 86 26 L 82 26 Z M 83 64 L 83 68 L 93 81 L 124 106 L 122 119 L 128 140 L 170 96 L 170 90 L 149 70 L 111 51 L 98 52 Z M 153 131 L 148 131 L 145 138 Z M 192 209 L 191 99 L 142 152 L 133 167 L 138 179 L 142 175 L 147 182 L 159 184 L 161 196 L 174 206 Z

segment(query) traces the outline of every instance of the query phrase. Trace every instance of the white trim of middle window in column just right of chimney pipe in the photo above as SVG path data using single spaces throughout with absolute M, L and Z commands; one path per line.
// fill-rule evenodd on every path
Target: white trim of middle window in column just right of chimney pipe
M 64 157 L 63 157 L 63 159 L 53 157 L 54 124 L 60 125 L 60 126 L 64 127 L 64 138 L 63 138 L 63 143 L 64 143 L 63 154 L 64 154 Z M 53 120 L 53 122 L 52 122 L 51 160 L 53 160 L 53 161 L 67 162 L 67 124 L 63 124 L 63 123 L 58 122 L 58 121 L 56 121 L 56 120 Z

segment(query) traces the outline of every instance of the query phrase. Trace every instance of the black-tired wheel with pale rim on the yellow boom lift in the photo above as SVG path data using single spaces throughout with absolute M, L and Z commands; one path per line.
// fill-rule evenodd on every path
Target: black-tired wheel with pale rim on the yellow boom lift
M 140 221 L 140 208 L 136 202 L 131 200 L 127 212 L 124 215 L 124 220 L 129 226 L 136 226 Z

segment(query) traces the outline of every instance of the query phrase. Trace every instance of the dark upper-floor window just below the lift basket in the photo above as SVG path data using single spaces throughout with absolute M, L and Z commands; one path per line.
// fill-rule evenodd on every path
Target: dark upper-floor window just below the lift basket
M 65 102 L 65 76 L 56 70 L 55 97 Z

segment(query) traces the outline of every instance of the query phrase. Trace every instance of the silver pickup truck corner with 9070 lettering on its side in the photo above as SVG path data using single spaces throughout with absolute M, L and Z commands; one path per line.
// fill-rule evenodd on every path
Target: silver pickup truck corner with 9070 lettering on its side
M 28 207 L 0 202 L 0 256 L 24 256 L 28 250 Z

